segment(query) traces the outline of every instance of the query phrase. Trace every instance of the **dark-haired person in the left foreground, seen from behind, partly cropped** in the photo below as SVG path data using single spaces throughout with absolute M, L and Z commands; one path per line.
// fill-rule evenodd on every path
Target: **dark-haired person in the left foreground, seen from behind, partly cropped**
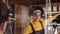
M 0 2 L 0 34 L 4 34 L 8 24 L 9 11 L 3 2 Z

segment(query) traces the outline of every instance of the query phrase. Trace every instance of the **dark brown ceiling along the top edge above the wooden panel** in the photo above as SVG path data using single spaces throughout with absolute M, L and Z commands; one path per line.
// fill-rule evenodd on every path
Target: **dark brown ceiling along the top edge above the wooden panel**
M 8 2 L 9 4 L 19 4 L 19 5 L 39 5 L 39 4 L 45 4 L 46 0 L 8 0 Z M 60 2 L 60 0 L 51 0 L 51 2 L 56 3 Z

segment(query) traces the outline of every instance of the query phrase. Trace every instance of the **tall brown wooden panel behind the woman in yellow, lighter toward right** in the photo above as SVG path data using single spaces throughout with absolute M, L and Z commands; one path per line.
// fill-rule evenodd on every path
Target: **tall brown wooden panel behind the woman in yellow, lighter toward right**
M 25 24 L 28 23 L 28 7 L 15 5 L 14 34 L 22 34 Z

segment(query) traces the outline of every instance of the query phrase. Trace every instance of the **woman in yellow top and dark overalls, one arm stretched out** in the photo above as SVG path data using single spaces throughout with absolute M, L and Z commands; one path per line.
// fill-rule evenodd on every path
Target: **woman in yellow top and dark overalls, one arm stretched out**
M 24 34 L 45 34 L 45 20 L 40 18 L 43 15 L 43 9 L 41 7 L 33 7 L 33 21 L 32 23 L 29 23 L 25 29 Z M 48 18 L 47 23 L 50 23 L 52 20 L 54 20 L 59 14 L 56 14 L 52 16 L 51 18 Z

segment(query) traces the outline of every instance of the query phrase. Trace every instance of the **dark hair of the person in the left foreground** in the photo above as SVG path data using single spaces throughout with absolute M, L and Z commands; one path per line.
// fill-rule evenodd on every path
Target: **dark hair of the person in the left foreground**
M 0 2 L 0 25 L 8 20 L 9 10 L 3 1 Z

